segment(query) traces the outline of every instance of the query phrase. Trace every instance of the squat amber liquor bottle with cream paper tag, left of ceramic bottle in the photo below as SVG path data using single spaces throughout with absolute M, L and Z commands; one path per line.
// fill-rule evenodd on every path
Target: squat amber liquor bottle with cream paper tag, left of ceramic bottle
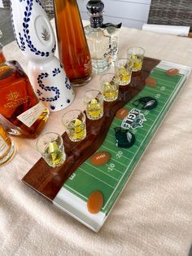
M 37 138 L 49 116 L 17 61 L 6 61 L 0 44 L 0 122 L 11 135 Z

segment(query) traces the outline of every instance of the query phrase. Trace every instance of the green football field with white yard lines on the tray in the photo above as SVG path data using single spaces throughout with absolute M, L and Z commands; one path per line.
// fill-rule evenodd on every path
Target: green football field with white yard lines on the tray
M 93 166 L 90 158 L 87 159 L 76 171 L 72 177 L 63 184 L 63 188 L 72 194 L 87 201 L 89 195 L 94 191 L 103 193 L 103 213 L 107 214 L 114 205 L 124 184 L 127 183 L 134 167 L 137 165 L 142 153 L 146 149 L 152 136 L 155 134 L 160 122 L 168 112 L 172 101 L 175 99 L 181 86 L 185 82 L 184 74 L 177 74 L 174 77 L 168 77 L 162 68 L 154 68 L 150 77 L 155 78 L 157 86 L 145 86 L 136 98 L 132 99 L 124 108 L 129 109 L 129 113 L 138 111 L 138 117 L 142 118 L 141 126 L 129 130 L 135 135 L 135 143 L 130 148 L 119 148 L 116 145 L 114 128 L 122 126 L 122 121 L 117 117 L 111 123 L 107 137 L 103 145 L 97 152 L 109 152 L 110 161 L 103 166 Z M 142 110 L 133 106 L 133 101 L 142 97 L 151 96 L 158 101 L 156 108 L 151 110 Z M 140 119 L 141 119 L 140 118 Z

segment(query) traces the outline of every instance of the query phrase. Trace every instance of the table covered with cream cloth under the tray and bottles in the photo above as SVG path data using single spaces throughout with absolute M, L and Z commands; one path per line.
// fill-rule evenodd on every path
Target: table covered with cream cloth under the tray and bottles
M 129 46 L 146 56 L 192 66 L 191 38 L 120 30 L 120 57 Z M 24 59 L 16 42 L 4 47 L 7 60 Z M 85 90 L 98 87 L 99 76 L 75 89 L 68 107 L 83 109 Z M 119 201 L 98 233 L 90 231 L 20 180 L 40 155 L 36 139 L 13 138 L 15 158 L 0 167 L 1 255 L 188 255 L 191 243 L 192 77 L 186 82 L 162 126 L 137 165 Z M 61 115 L 51 113 L 44 132 L 63 134 Z

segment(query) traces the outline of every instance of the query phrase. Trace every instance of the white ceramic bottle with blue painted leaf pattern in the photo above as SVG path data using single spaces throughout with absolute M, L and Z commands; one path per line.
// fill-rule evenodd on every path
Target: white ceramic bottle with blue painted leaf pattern
M 55 57 L 55 34 L 40 0 L 11 0 L 15 40 L 28 58 L 28 77 L 50 111 L 67 108 L 74 99 L 72 86 Z

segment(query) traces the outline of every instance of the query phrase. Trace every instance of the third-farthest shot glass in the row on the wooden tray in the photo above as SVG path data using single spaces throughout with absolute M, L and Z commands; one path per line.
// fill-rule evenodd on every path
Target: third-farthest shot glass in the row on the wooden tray
M 100 86 L 105 101 L 115 101 L 118 98 L 120 79 L 115 73 L 107 73 L 100 77 Z

